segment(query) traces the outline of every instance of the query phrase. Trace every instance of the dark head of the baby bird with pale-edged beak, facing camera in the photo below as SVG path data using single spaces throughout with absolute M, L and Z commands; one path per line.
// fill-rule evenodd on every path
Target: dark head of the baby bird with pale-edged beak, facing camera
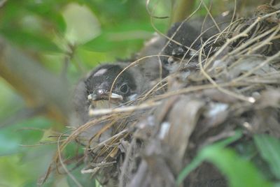
M 137 85 L 134 76 L 128 70 L 121 73 L 122 71 L 123 67 L 118 64 L 106 64 L 88 75 L 85 85 L 90 105 L 94 108 L 111 107 L 136 96 Z

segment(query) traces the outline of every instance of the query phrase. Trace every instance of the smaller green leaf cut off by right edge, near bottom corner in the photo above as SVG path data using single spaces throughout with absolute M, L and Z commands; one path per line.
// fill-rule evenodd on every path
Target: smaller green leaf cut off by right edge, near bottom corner
M 253 140 L 275 177 L 280 179 L 280 141 L 269 135 L 254 135 Z

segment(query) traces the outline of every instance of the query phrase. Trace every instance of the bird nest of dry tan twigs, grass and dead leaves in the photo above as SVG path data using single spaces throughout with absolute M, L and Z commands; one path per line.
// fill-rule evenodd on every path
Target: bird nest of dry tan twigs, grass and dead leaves
M 134 103 L 90 110 L 94 119 L 76 128 L 59 150 L 73 140 L 83 144 L 86 163 L 81 172 L 104 186 L 175 186 L 198 150 L 235 135 L 237 129 L 242 134 L 238 143 L 251 140 L 255 133 L 280 137 L 279 12 L 232 19 L 191 56 L 187 51 L 174 57 L 165 47 L 172 42 L 182 45 L 172 38 L 182 22 L 173 36 L 165 36 L 167 42 L 158 54 L 139 57 L 127 67 L 151 58 L 165 66 L 162 59 L 173 57 L 176 70 L 157 80 Z M 107 121 L 102 130 L 83 137 L 100 121 Z M 108 140 L 92 144 L 109 128 L 113 135 Z M 228 183 L 208 163 L 182 182 L 185 186 Z

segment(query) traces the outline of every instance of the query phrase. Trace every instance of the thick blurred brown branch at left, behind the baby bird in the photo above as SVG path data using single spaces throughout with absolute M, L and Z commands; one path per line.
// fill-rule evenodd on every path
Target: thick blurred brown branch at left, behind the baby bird
M 0 75 L 29 107 L 45 107 L 45 114 L 65 122 L 69 115 L 69 86 L 39 63 L 0 38 Z

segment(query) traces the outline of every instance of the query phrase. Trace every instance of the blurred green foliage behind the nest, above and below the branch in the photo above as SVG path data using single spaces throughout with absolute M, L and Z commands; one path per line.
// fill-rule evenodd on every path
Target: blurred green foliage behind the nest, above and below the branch
M 164 12 L 165 6 L 158 9 Z M 166 26 L 156 23 L 162 31 Z M 145 1 L 11 0 L 0 8 L 1 36 L 48 70 L 62 73 L 65 58 L 71 54 L 66 70 L 71 84 L 102 61 L 129 58 L 153 32 Z M 1 126 L 25 110 L 25 102 L 4 80 L 0 80 L 0 105 L 0 186 L 36 186 L 57 149 L 51 143 L 57 138 L 49 135 L 69 129 L 62 130 L 64 124 L 44 117 Z M 69 144 L 62 155 L 70 159 L 81 153 L 77 144 Z M 75 164 L 67 165 L 68 169 Z M 94 184 L 80 169 L 73 171 L 78 181 L 84 186 Z M 44 186 L 75 184 L 67 176 L 51 174 Z

